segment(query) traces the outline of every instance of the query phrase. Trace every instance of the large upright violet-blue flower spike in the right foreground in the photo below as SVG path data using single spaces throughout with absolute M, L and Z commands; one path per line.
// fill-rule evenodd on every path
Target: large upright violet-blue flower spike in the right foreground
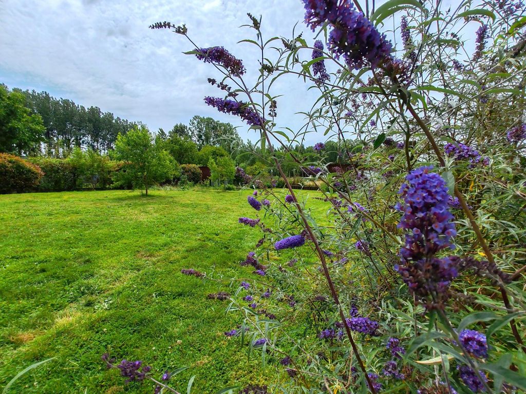
M 457 232 L 448 210 L 446 182 L 431 170 L 420 167 L 411 171 L 406 177 L 408 183 L 400 189 L 404 202 L 397 204 L 403 212 L 398 227 L 407 233 L 401 263 L 395 265 L 411 292 L 426 300 L 432 296 L 433 304 L 428 306 L 447 299 L 449 284 L 458 274 L 456 257 L 434 257 L 444 248 L 454 248 L 451 239 Z

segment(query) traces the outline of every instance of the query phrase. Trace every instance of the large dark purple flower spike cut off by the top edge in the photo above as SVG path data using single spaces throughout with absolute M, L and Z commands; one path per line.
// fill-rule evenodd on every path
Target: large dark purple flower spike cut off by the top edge
M 351 2 L 337 0 L 303 0 L 305 22 L 312 30 L 326 22 L 332 26 L 329 49 L 343 56 L 350 69 L 378 67 L 391 57 L 391 43 L 358 12 Z

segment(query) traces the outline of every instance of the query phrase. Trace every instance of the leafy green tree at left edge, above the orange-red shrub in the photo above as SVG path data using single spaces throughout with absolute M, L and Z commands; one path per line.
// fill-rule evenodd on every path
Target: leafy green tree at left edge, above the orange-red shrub
M 26 107 L 24 95 L 0 85 L 0 152 L 34 153 L 44 131 L 42 117 Z

